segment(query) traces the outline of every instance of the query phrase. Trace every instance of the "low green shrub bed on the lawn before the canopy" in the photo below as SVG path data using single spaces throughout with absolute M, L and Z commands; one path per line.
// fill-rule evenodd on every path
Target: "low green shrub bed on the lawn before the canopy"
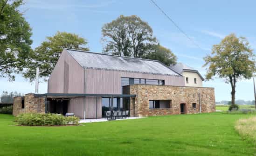
M 64 117 L 60 114 L 38 114 L 27 113 L 21 114 L 15 118 L 15 122 L 19 125 L 25 126 L 53 126 L 53 125 L 67 125 L 79 124 L 79 118 L 75 116 Z

